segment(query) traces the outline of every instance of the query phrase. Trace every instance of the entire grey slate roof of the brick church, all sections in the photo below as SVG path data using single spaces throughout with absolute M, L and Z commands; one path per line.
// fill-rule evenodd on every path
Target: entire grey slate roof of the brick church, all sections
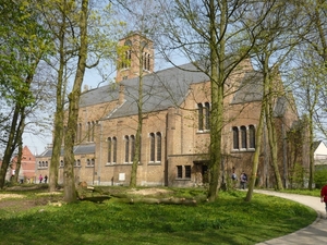
M 246 72 L 231 103 L 261 101 L 263 95 L 263 75 L 259 72 Z M 160 111 L 179 106 L 184 101 L 191 84 L 209 81 L 209 77 L 198 71 L 192 63 L 179 68 L 170 68 L 144 76 L 143 78 L 143 111 Z M 124 102 L 113 109 L 106 119 L 134 115 L 137 113 L 138 77 L 120 82 L 124 86 Z M 80 107 L 118 100 L 119 84 L 111 84 L 88 90 L 81 95 Z M 279 98 L 275 107 L 275 117 L 282 115 L 288 101 Z

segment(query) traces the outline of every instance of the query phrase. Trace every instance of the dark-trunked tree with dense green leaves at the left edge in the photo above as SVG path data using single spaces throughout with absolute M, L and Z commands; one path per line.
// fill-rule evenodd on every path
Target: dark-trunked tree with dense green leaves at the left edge
M 1 8 L 0 93 L 13 103 L 7 146 L 0 170 L 0 187 L 24 130 L 26 107 L 34 101 L 31 84 L 39 61 L 49 51 L 49 36 L 38 21 L 35 1 L 9 1 Z

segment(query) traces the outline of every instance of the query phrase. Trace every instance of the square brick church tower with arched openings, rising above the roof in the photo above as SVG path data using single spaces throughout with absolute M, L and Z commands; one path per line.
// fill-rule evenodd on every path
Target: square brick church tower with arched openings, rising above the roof
M 118 56 L 117 83 L 154 72 L 154 44 L 137 33 L 119 40 Z

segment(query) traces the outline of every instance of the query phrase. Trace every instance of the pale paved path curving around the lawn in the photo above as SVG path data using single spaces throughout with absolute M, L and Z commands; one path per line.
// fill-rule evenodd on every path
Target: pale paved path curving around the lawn
M 269 240 L 257 245 L 310 245 L 327 244 L 327 219 L 325 219 L 325 204 L 319 197 L 286 194 L 270 191 L 255 189 L 255 193 L 279 196 L 306 205 L 317 211 L 317 219 L 308 226 L 278 238 Z

